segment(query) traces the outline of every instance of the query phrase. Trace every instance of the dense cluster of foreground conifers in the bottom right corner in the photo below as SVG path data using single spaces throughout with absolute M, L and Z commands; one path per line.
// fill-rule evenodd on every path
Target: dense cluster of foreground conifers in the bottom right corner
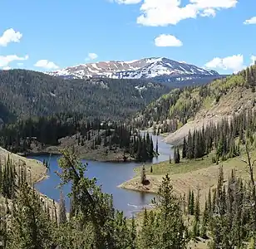
M 194 216 L 190 236 L 208 239 L 209 248 L 255 248 L 254 188 L 236 177 L 234 170 L 224 184 L 220 167 L 217 187 L 209 189 L 202 210 L 199 191 L 190 191 L 183 203 L 185 213 Z

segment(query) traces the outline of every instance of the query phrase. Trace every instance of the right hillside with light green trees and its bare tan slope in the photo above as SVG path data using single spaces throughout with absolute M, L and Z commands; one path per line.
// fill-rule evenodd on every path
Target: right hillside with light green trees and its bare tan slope
M 172 133 L 166 141 L 182 142 L 189 131 L 254 110 L 256 65 L 208 85 L 174 89 L 146 106 L 135 118 L 137 127 Z

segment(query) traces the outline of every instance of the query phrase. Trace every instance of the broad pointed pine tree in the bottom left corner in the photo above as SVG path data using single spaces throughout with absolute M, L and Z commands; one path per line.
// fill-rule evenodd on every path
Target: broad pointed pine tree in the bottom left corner
M 27 183 L 13 204 L 7 248 L 48 249 L 54 246 L 52 222 L 43 210 L 38 194 Z

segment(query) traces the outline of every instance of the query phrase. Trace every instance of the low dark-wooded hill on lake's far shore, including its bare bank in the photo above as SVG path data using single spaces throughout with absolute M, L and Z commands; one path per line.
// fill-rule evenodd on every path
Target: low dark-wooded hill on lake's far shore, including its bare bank
M 60 149 L 70 148 L 82 159 L 100 161 L 145 162 L 157 154 L 149 133 L 68 113 L 2 125 L 0 146 L 22 154 L 59 154 Z

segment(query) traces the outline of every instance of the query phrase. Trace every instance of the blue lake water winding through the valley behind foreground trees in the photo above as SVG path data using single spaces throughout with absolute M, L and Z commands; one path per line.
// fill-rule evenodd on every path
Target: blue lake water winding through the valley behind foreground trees
M 156 136 L 152 136 L 154 145 L 156 144 Z M 173 150 L 170 144 L 166 144 L 158 137 L 158 149 L 160 155 L 153 159 L 153 164 L 169 160 L 170 155 L 173 156 Z M 48 155 L 30 156 L 28 158 L 40 161 L 49 160 Z M 56 171 L 60 170 L 57 164 L 59 155 L 52 155 L 50 159 L 49 178 L 36 184 L 36 188 L 41 193 L 46 194 L 49 198 L 59 201 L 59 189 L 57 185 L 60 183 Z M 96 177 L 101 184 L 102 191 L 113 194 L 113 202 L 116 209 L 122 210 L 127 217 L 131 217 L 135 212 L 140 212 L 144 207 L 150 204 L 151 199 L 155 196 L 151 193 L 140 193 L 132 190 L 117 188 L 121 183 L 135 176 L 134 168 L 140 167 L 141 163 L 102 163 L 91 160 L 82 160 L 88 163 L 86 176 L 89 178 Z M 70 186 L 65 186 L 63 192 L 69 193 Z M 66 202 L 69 207 L 69 203 Z

